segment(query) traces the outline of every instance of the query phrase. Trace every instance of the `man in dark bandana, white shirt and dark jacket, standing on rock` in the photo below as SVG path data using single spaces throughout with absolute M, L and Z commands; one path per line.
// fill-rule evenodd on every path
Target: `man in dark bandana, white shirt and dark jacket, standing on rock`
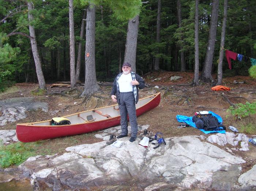
M 137 104 L 139 100 L 139 89 L 143 89 L 145 87 L 145 82 L 138 74 L 131 72 L 131 65 L 128 62 L 123 64 L 122 70 L 123 72 L 117 75 L 110 94 L 112 100 L 118 103 L 121 116 L 122 132 L 116 138 L 119 139 L 127 137 L 128 114 L 131 125 L 130 141 L 133 142 L 135 141 L 138 133 L 135 104 Z

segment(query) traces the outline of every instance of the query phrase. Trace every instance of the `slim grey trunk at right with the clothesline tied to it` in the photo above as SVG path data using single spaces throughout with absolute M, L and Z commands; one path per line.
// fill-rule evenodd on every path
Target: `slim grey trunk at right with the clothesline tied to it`
M 222 62 L 224 56 L 224 44 L 225 44 L 225 31 L 226 31 L 226 21 L 227 21 L 227 0 L 224 0 L 224 15 L 221 28 L 221 51 L 219 52 L 219 64 L 218 64 L 218 82 L 216 85 L 221 85 L 222 83 Z

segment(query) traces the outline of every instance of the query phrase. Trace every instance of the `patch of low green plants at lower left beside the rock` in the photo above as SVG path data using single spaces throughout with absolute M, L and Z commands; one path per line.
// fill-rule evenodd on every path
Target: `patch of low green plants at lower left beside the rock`
M 19 165 L 33 155 L 35 155 L 35 149 L 30 143 L 0 145 L 0 166 L 7 168 L 11 165 Z

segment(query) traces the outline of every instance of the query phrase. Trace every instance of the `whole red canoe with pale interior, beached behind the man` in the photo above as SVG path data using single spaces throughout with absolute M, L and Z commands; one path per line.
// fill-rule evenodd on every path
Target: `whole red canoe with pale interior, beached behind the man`
M 157 107 L 161 100 L 160 93 L 142 98 L 136 104 L 136 115 Z M 110 105 L 103 108 L 91 109 L 84 112 L 64 116 L 70 125 L 51 125 L 52 120 L 16 125 L 16 135 L 19 141 L 33 142 L 38 140 L 52 139 L 79 135 L 120 125 L 120 112 L 118 105 Z

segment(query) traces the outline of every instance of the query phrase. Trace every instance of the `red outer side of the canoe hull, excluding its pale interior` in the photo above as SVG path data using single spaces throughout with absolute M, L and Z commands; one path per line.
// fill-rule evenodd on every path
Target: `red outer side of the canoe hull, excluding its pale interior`
M 141 114 L 157 107 L 160 100 L 161 95 L 159 93 L 150 102 L 136 109 L 136 116 L 140 116 Z M 19 141 L 27 143 L 45 139 L 53 139 L 56 137 L 79 135 L 117 125 L 120 125 L 120 116 L 107 118 L 106 120 L 101 121 L 61 126 L 17 124 L 16 135 Z

